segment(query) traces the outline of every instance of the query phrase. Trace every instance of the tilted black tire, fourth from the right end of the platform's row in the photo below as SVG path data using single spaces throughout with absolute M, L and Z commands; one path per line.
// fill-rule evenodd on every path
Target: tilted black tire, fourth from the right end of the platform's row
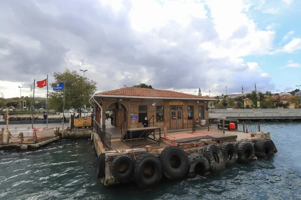
M 205 146 L 204 156 L 208 159 L 211 171 L 220 172 L 225 169 L 224 155 L 217 145 L 209 144 Z

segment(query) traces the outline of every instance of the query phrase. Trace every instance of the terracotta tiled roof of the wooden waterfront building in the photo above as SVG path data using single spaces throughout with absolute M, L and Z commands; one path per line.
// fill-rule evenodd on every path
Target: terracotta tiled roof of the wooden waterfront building
M 193 99 L 213 99 L 216 100 L 214 97 L 208 96 L 197 96 L 193 94 L 187 94 L 177 91 L 170 91 L 170 90 L 163 90 L 163 89 L 148 89 L 148 88 L 141 88 L 141 87 L 123 87 L 120 89 L 110 90 L 110 91 L 103 91 L 99 92 L 96 95 L 103 95 L 103 96 L 134 96 L 134 97 L 154 97 L 154 98 L 193 98 Z

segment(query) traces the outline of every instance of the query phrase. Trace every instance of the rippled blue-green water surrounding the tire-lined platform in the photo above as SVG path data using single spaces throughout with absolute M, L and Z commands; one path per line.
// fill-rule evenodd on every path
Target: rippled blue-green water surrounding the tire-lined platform
M 104 186 L 95 178 L 88 139 L 62 140 L 34 151 L 0 150 L 0 199 L 301 199 L 301 123 L 262 122 L 278 152 L 220 174 L 141 189 Z

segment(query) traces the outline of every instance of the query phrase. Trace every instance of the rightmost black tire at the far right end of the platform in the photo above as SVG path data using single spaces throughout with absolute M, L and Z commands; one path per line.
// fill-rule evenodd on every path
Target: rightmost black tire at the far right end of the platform
M 274 154 L 274 146 L 268 139 L 258 139 L 254 142 L 255 155 L 260 158 L 271 157 Z

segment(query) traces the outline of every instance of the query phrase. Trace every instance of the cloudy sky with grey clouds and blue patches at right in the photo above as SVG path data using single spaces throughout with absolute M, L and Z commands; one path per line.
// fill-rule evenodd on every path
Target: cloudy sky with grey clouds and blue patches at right
M 205 95 L 255 82 L 295 89 L 300 1 L 1 0 L 0 92 L 30 95 L 34 79 L 52 83 L 64 68 L 88 69 L 98 91 L 140 82 Z

